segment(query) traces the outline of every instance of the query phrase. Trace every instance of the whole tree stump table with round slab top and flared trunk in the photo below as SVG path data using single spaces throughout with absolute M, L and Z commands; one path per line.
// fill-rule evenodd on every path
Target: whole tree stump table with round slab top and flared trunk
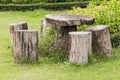
M 45 16 L 47 23 L 59 26 L 59 32 L 56 40 L 51 45 L 50 50 L 60 49 L 68 51 L 68 33 L 77 31 L 78 25 L 93 24 L 94 18 L 83 15 L 72 14 L 48 14 Z

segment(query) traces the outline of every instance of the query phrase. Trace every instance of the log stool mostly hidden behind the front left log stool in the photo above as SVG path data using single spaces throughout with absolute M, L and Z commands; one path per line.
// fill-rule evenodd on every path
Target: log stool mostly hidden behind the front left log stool
M 11 42 L 13 45 L 13 34 L 15 30 L 28 30 L 28 26 L 26 22 L 19 22 L 19 23 L 12 23 L 10 24 L 10 35 L 11 35 Z

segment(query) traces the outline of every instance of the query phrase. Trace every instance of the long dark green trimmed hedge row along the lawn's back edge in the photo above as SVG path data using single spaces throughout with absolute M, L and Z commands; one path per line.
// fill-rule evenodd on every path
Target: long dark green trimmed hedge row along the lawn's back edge
M 89 2 L 72 2 L 72 3 L 42 3 L 42 4 L 0 4 L 0 11 L 33 11 L 35 9 L 46 10 L 64 10 L 71 7 L 85 8 Z

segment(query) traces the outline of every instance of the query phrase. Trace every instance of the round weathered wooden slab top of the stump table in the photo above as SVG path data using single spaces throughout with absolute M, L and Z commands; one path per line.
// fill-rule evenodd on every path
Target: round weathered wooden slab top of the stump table
M 94 18 L 76 14 L 48 14 L 45 16 L 48 23 L 56 26 L 77 26 L 93 24 Z

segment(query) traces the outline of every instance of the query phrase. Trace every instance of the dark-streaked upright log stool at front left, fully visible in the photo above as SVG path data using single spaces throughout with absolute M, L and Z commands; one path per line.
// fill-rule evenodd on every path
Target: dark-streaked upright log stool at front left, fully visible
M 33 30 L 16 30 L 13 36 L 14 61 L 18 59 L 38 60 L 38 32 Z

